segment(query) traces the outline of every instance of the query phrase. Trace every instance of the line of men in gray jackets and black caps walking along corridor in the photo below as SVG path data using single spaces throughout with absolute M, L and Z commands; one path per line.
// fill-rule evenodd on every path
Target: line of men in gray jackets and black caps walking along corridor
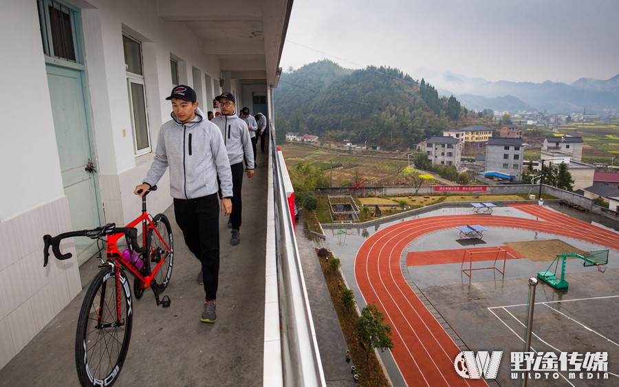
M 230 244 L 241 242 L 241 187 L 243 174 L 254 175 L 257 137 L 264 136 L 267 120 L 262 113 L 250 115 L 243 107 L 237 115 L 232 93 L 215 100 L 218 115 L 199 109 L 195 91 L 186 85 L 172 89 L 172 120 L 161 127 L 153 164 L 135 195 L 144 195 L 170 170 L 174 213 L 185 243 L 202 264 L 197 283 L 204 286 L 205 302 L 200 321 L 217 320 L 219 279 L 219 212 L 230 216 Z M 243 168 L 243 162 L 245 167 Z

